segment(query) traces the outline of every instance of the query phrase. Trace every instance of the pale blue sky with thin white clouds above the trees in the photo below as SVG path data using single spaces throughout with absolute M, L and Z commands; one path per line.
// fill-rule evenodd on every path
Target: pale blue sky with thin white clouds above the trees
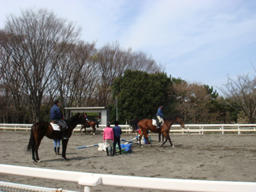
M 151 56 L 168 76 L 218 93 L 228 77 L 256 74 L 255 0 L 0 0 L 0 29 L 27 8 L 47 8 L 76 22 L 97 48 L 118 42 Z

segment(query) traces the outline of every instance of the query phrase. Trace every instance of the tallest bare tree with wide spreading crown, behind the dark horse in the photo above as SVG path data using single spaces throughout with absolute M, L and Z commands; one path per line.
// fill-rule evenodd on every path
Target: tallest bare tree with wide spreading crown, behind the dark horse
M 0 46 L 6 55 L 6 65 L 19 70 L 25 84 L 22 92 L 28 98 L 34 120 L 38 121 L 44 95 L 58 94 L 54 77 L 57 63 L 76 43 L 80 31 L 74 23 L 58 19 L 45 9 L 24 10 L 19 17 L 10 15 L 3 31 Z

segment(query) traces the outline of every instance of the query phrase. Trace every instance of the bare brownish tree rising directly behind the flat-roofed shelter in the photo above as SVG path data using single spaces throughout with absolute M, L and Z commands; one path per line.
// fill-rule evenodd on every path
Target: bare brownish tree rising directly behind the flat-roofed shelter
M 58 89 L 61 99 L 67 99 L 68 106 L 91 105 L 97 80 L 97 65 L 92 59 L 96 52 L 94 42 L 81 41 L 73 45 L 58 63 Z

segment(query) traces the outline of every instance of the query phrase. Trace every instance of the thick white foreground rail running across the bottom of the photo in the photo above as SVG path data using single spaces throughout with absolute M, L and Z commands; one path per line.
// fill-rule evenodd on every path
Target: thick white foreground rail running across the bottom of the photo
M 256 191 L 256 182 L 164 179 L 124 175 L 106 175 L 97 173 L 69 172 L 63 170 L 49 170 L 43 168 L 29 168 L 8 164 L 0 164 L 0 173 L 76 182 L 77 184 L 84 186 L 85 192 L 91 191 L 92 187 L 97 185 L 138 189 L 157 189 L 165 191 Z

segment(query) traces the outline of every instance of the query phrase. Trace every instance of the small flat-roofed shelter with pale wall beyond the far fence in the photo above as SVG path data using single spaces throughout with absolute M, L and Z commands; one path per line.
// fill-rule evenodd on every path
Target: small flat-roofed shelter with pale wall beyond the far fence
M 109 109 L 105 107 L 92 107 L 92 108 L 65 108 L 65 110 L 72 113 L 100 113 L 101 115 L 101 125 L 106 125 L 109 122 Z M 68 113 L 67 113 L 68 114 Z

